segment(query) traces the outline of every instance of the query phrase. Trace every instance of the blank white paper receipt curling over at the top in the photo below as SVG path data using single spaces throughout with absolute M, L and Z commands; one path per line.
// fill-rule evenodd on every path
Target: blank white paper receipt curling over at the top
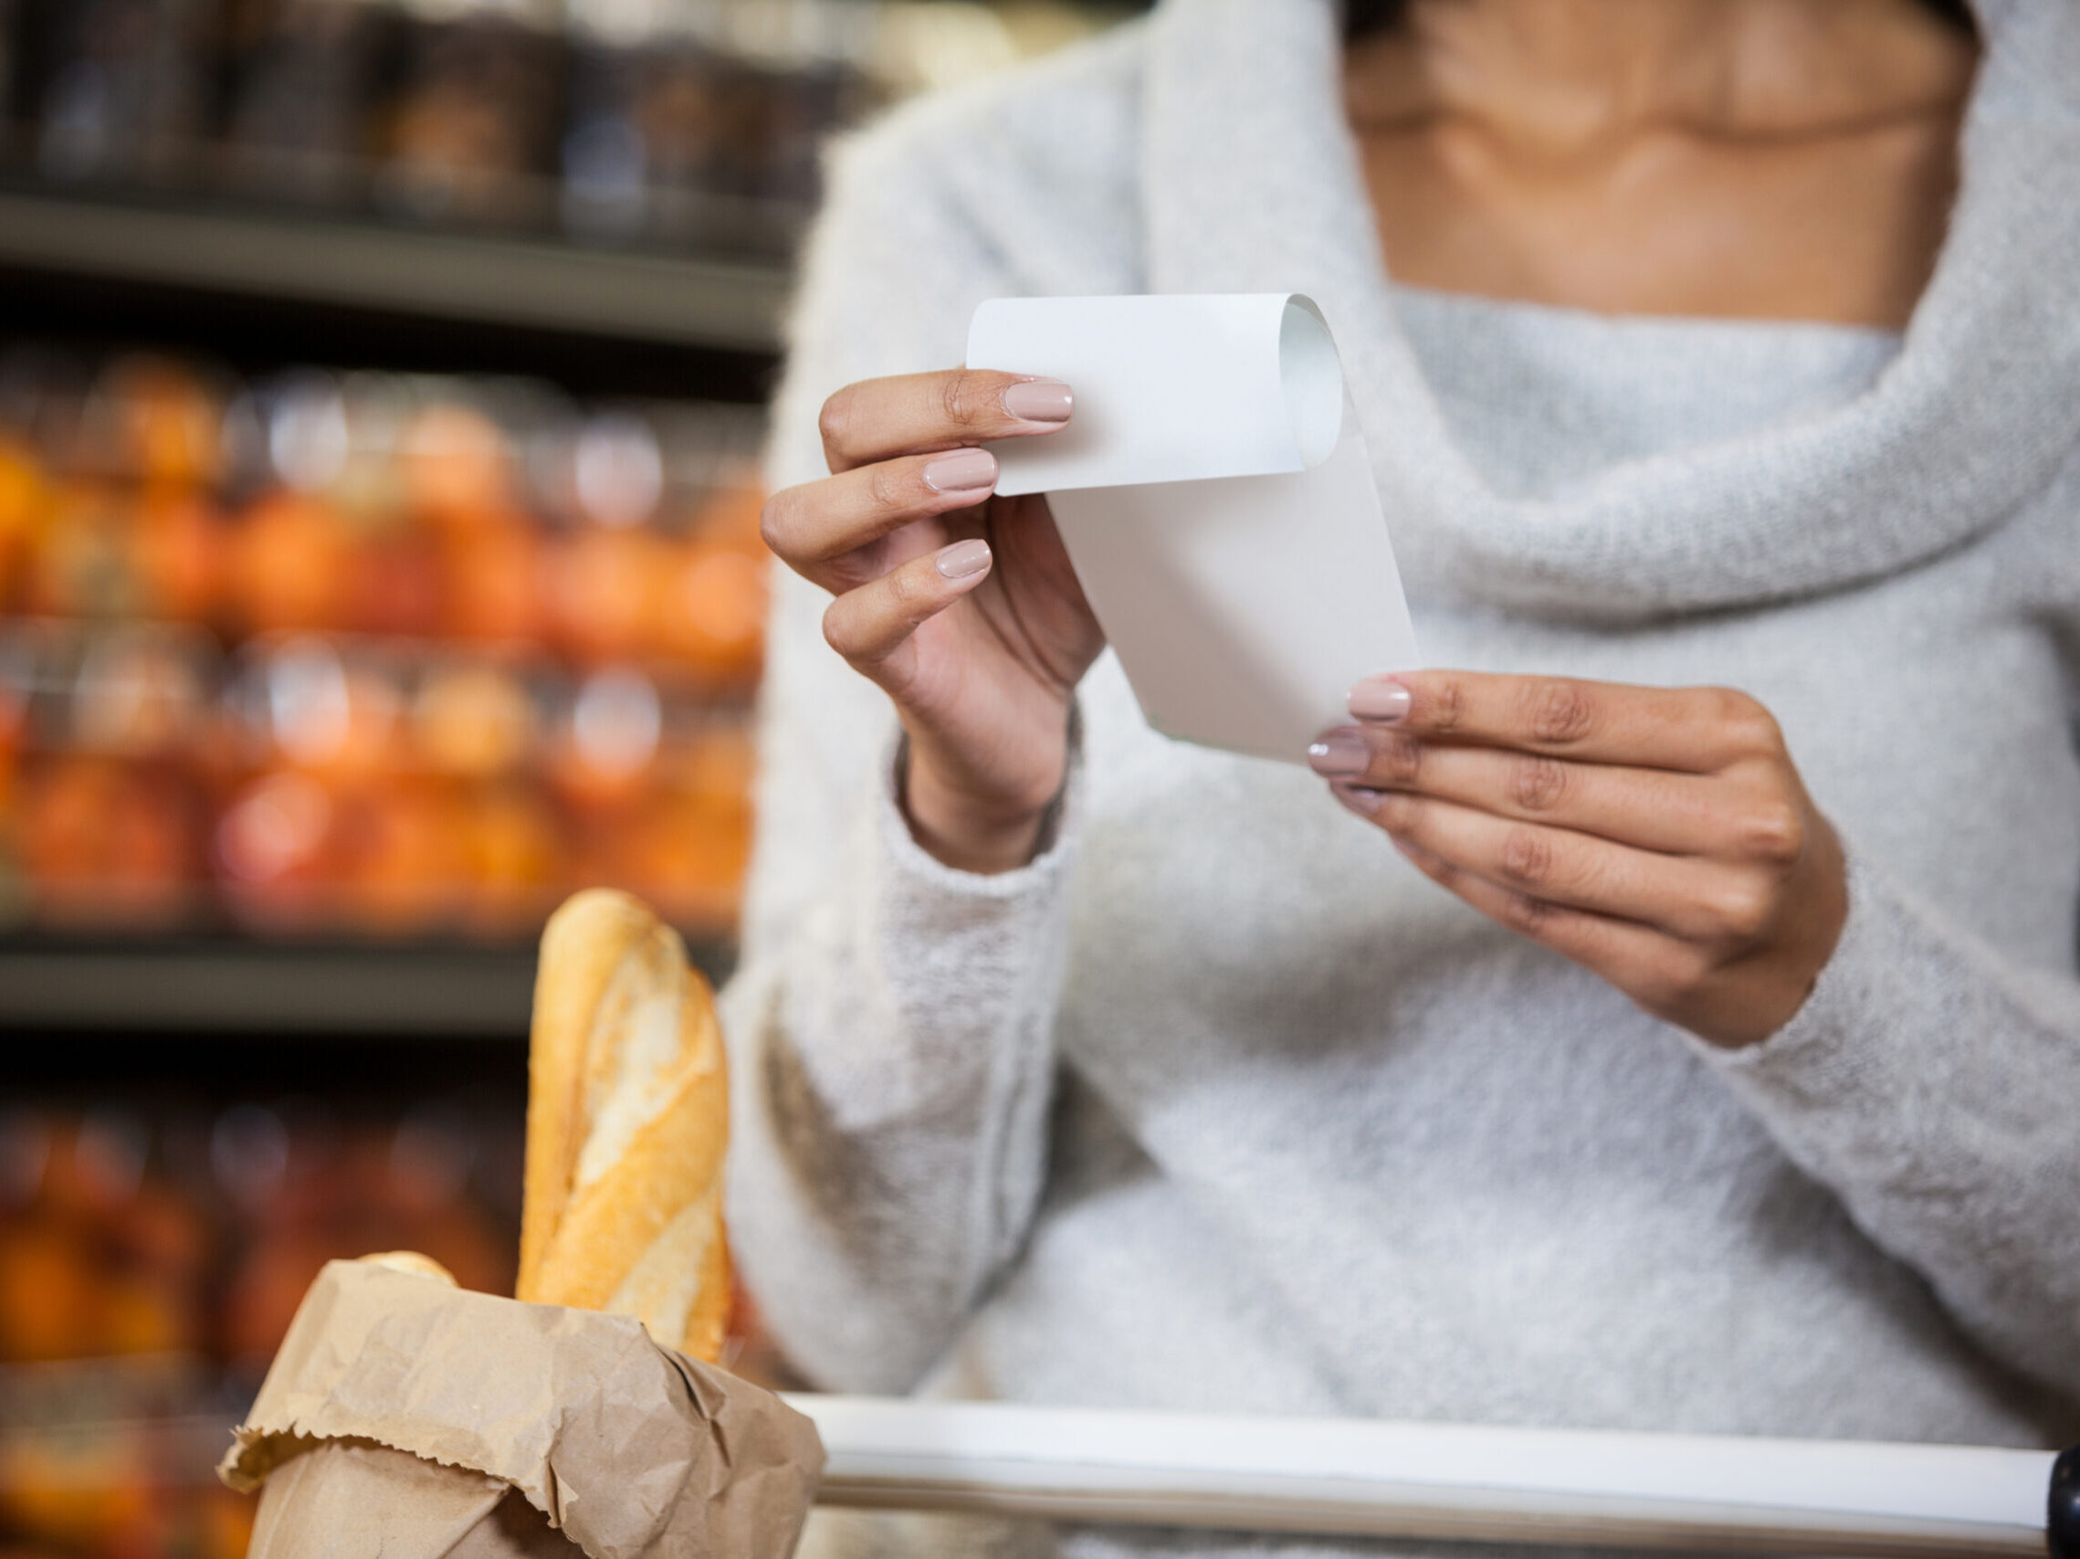
M 1321 310 L 1296 293 L 998 298 L 967 362 L 1061 379 L 1061 433 L 992 443 L 1046 493 L 1148 724 L 1304 762 L 1360 676 L 1416 664 Z

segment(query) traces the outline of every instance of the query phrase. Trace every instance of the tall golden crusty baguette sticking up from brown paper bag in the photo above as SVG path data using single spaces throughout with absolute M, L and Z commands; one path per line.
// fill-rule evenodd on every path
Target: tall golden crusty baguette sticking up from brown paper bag
M 722 1351 L 728 1080 L 707 980 L 641 901 L 578 893 L 541 937 L 518 1297 Z

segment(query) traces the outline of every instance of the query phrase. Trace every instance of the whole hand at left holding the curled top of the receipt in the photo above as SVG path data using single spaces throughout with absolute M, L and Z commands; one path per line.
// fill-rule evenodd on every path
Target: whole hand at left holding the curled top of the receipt
M 911 833 L 963 870 L 1032 860 L 1104 647 L 1046 497 L 996 497 L 976 448 L 1057 433 L 1069 410 L 1063 383 L 976 368 L 847 385 L 822 416 L 832 475 L 774 493 L 761 520 L 836 597 L 824 637 L 909 733 Z

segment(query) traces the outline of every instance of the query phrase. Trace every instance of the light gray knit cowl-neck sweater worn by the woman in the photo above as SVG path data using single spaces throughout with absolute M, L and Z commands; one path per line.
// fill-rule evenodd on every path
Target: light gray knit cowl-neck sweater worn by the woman
M 1111 658 L 1059 841 L 953 872 L 790 581 L 732 1232 L 817 1384 L 2080 1438 L 2080 6 L 1982 21 L 1899 339 L 1396 293 L 1325 0 L 1171 0 L 842 154 L 776 483 L 984 298 L 1306 291 L 1427 658 L 1747 689 L 1851 912 L 1791 1024 L 1714 1051 L 1304 768 L 1152 735 Z

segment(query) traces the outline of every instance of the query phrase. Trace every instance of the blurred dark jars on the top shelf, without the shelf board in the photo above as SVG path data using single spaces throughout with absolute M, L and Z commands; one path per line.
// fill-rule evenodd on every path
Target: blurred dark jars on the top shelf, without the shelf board
M 0 106 L 19 169 L 64 187 L 788 256 L 832 131 L 1119 10 L 12 0 Z

